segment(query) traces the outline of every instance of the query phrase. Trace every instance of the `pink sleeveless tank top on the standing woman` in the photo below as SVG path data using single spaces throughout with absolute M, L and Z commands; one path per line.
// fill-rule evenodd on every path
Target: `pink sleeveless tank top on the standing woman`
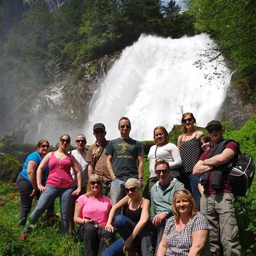
M 73 187 L 74 180 L 70 173 L 71 167 L 70 154 L 67 154 L 67 157 L 64 159 L 58 159 L 55 157 L 55 153 L 52 152 L 49 159 L 49 175 L 46 185 L 59 188 Z

